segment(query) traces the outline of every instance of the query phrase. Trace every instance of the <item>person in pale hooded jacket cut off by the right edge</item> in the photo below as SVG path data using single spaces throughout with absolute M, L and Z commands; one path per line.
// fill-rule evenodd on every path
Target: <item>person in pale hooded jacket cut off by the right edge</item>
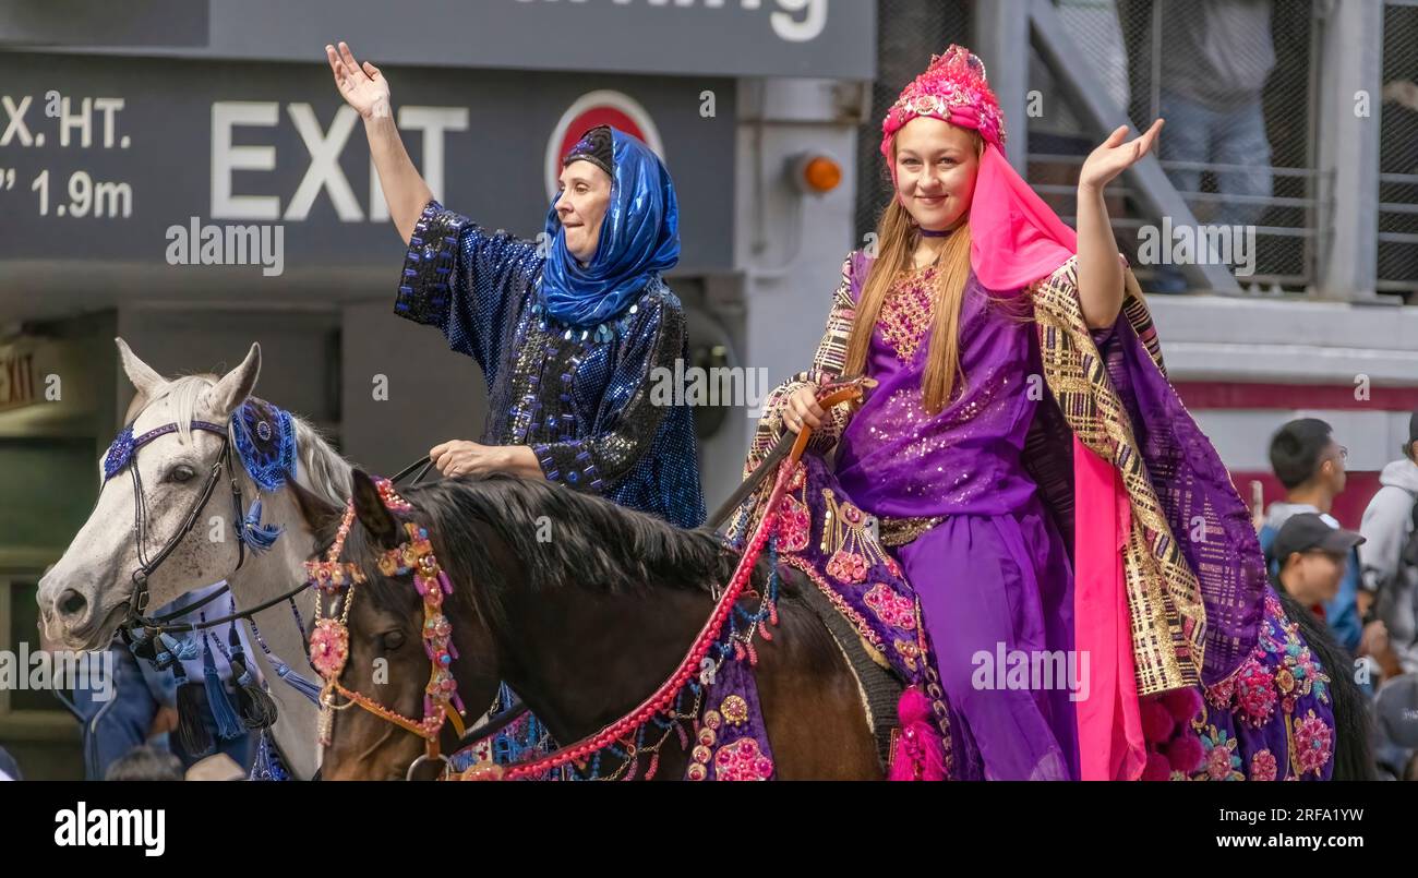
M 1378 492 L 1368 501 L 1360 533 L 1364 587 L 1374 593 L 1373 616 L 1383 623 L 1398 671 L 1418 672 L 1418 411 L 1408 418 L 1402 457 L 1384 465 Z

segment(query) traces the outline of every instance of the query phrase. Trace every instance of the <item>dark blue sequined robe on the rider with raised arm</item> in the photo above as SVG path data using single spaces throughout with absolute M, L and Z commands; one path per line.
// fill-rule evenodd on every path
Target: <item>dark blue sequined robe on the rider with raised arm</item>
M 652 370 L 672 373 L 686 356 L 679 299 L 657 277 L 611 321 L 567 326 L 539 302 L 543 262 L 535 241 L 430 201 L 394 313 L 437 326 L 482 366 L 484 444 L 530 445 L 550 481 L 681 528 L 703 523 L 692 411 L 651 401 Z

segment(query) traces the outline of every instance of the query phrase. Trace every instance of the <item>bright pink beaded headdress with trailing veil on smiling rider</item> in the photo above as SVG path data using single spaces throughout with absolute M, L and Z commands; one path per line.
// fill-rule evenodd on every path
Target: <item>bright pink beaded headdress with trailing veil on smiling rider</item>
M 1054 272 L 1078 251 L 1073 230 L 1045 204 L 1004 157 L 1004 115 L 984 62 L 951 44 L 900 92 L 882 121 L 882 156 L 896 179 L 892 142 L 908 122 L 932 116 L 980 132 L 986 142 L 970 201 L 970 265 L 994 291 L 1021 289 Z

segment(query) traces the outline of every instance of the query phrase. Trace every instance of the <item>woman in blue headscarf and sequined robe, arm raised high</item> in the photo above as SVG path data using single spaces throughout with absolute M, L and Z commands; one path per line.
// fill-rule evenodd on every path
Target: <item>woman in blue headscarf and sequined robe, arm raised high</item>
M 383 74 L 345 43 L 325 48 L 408 244 L 394 313 L 437 326 L 488 382 L 482 438 L 435 445 L 438 471 L 546 478 L 703 523 L 693 416 L 651 394 L 654 370 L 686 356 L 685 313 L 661 277 L 679 261 L 679 207 L 655 153 L 593 128 L 562 162 L 543 241 L 492 234 L 434 199 Z

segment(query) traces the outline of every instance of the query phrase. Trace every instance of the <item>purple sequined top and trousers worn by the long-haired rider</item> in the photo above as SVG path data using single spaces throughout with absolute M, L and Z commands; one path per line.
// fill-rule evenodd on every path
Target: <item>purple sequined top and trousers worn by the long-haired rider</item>
M 934 641 L 957 776 L 1076 777 L 1073 574 L 1022 462 L 1046 393 L 1035 328 L 1027 299 L 995 298 L 971 274 L 964 379 L 929 414 L 933 278 L 934 268 L 903 275 L 882 306 L 866 369 L 879 386 L 842 434 L 837 477 L 879 519 L 940 518 L 896 557 Z

